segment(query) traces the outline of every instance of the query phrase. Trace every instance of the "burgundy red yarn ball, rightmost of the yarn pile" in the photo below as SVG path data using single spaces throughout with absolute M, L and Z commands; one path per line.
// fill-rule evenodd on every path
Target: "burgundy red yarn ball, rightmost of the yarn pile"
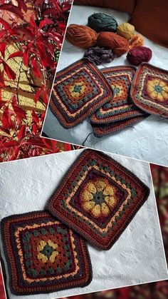
M 137 46 L 127 53 L 127 61 L 133 66 L 138 66 L 142 62 L 148 62 L 152 58 L 151 49 L 146 46 Z

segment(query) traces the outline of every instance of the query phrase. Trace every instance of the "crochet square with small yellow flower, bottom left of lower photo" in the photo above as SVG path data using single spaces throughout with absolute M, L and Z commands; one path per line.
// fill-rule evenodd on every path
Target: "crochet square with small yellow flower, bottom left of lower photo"
M 46 211 L 4 218 L 1 235 L 15 295 L 84 287 L 92 280 L 85 241 Z

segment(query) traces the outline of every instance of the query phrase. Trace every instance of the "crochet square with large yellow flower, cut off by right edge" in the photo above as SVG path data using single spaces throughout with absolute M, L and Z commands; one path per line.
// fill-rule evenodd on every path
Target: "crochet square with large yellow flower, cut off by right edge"
M 147 113 L 168 118 L 168 71 L 141 64 L 132 81 L 130 96 Z

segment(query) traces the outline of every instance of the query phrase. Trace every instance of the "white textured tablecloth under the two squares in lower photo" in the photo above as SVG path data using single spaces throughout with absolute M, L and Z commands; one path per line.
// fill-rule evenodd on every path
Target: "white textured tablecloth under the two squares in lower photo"
M 83 150 L 1 163 L 0 217 L 42 210 L 81 151 Z M 97 250 L 88 246 L 93 265 L 93 281 L 85 288 L 16 296 L 11 294 L 7 279 L 10 299 L 60 298 L 168 278 L 149 164 L 112 154 L 110 156 L 147 184 L 150 195 L 110 250 Z M 0 245 L 6 267 L 4 251 L 1 243 Z M 6 273 L 8 277 L 7 267 Z

